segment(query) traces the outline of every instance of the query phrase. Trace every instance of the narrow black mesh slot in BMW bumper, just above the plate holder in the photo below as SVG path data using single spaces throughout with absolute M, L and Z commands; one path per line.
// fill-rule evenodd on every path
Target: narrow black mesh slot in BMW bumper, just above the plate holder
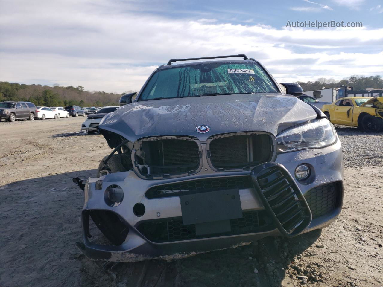
M 207 178 L 183 181 L 180 183 L 164 184 L 148 189 L 145 195 L 147 198 L 158 198 L 166 196 L 180 196 L 187 194 L 190 191 L 211 191 L 214 189 L 225 188 L 252 188 L 250 177 L 231 176 L 225 178 Z

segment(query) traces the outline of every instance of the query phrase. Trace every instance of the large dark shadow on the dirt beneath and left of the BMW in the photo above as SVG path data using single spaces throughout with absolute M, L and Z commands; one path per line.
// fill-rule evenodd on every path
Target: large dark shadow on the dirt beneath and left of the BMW
M 280 286 L 291 261 L 321 234 L 268 237 L 172 262 L 119 263 L 104 269 L 103 262 L 87 259 L 75 247 L 82 240 L 83 193 L 72 178 L 93 174 L 95 170 L 75 171 L 0 187 L 1 286 Z

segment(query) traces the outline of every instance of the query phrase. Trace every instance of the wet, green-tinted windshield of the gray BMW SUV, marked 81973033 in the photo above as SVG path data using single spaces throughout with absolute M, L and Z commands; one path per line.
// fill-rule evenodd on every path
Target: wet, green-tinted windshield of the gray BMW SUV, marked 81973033
M 278 89 L 256 63 L 219 62 L 158 70 L 139 101 L 241 93 L 278 93 Z

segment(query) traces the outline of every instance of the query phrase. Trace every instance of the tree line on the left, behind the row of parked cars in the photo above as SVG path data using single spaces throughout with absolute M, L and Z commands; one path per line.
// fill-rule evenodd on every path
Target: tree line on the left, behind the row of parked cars
M 127 91 L 130 93 L 132 91 Z M 46 86 L 0 82 L 0 102 L 29 101 L 36 106 L 115 106 L 123 94 L 84 91 L 82 86 Z

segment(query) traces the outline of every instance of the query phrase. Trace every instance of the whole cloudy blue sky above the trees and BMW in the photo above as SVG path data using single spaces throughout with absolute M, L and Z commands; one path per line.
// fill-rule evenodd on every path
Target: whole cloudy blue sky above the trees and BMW
M 0 81 L 123 93 L 169 59 L 231 54 L 278 82 L 383 76 L 383 2 L 0 0 Z

